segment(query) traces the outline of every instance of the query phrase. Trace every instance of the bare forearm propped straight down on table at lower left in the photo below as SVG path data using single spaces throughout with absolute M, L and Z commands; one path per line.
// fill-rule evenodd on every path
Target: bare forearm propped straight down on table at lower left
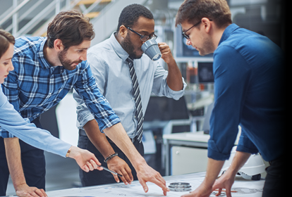
M 21 164 L 21 151 L 18 138 L 4 138 L 6 159 L 14 188 L 26 184 Z

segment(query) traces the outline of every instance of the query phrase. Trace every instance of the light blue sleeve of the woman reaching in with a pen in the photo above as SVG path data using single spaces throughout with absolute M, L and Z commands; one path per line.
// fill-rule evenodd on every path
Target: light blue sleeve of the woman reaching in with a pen
M 66 157 L 71 144 L 52 136 L 47 130 L 35 127 L 8 102 L 0 86 L 0 127 L 36 148 Z M 1 134 L 1 133 L 0 133 Z

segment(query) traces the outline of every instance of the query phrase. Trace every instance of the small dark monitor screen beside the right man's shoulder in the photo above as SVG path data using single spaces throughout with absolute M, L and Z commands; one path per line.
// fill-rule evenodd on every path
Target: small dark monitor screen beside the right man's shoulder
M 200 84 L 214 83 L 213 63 L 198 62 L 197 76 Z

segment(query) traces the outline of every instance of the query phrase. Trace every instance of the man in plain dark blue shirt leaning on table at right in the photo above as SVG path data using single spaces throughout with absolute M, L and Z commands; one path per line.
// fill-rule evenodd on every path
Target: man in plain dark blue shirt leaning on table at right
M 223 0 L 186 0 L 176 15 L 187 44 L 201 56 L 214 53 L 214 109 L 210 117 L 207 174 L 202 184 L 185 196 L 209 196 L 231 186 L 251 154 L 271 163 L 263 196 L 284 191 L 284 56 L 267 37 L 232 24 Z M 229 159 L 238 125 L 242 132 L 229 170 L 217 176 Z M 274 174 L 277 174 L 274 176 Z

